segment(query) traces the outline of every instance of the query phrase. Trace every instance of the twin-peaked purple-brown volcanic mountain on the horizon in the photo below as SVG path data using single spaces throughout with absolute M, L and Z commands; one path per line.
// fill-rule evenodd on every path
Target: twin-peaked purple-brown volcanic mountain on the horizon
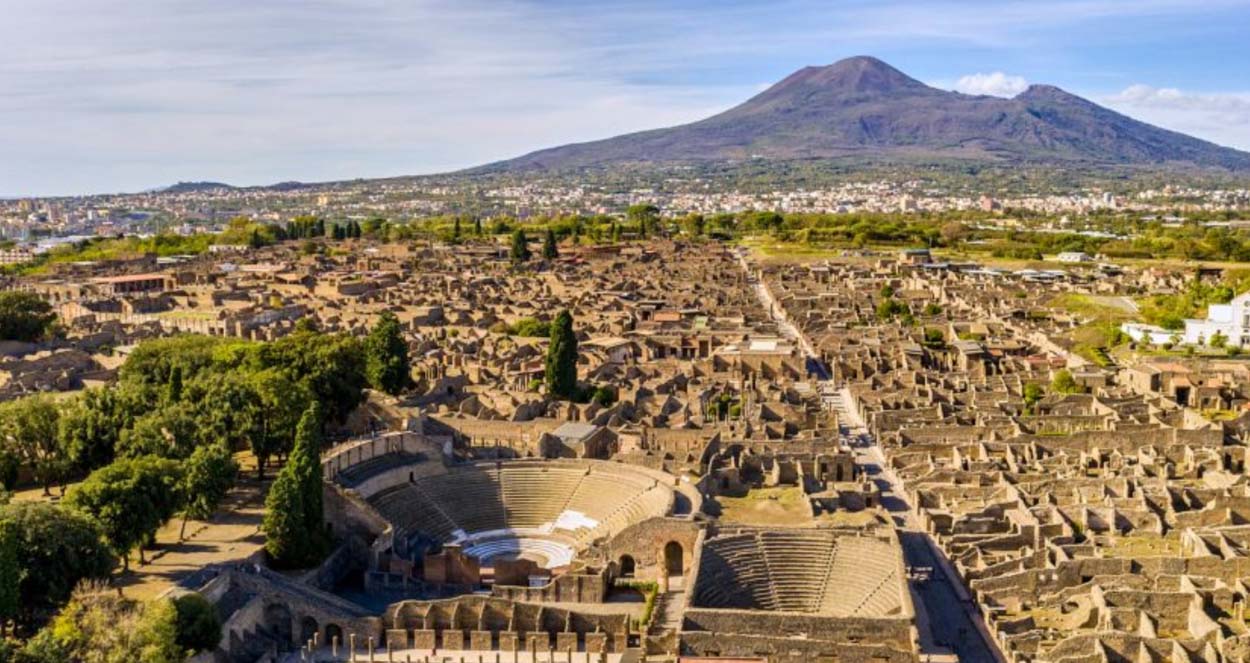
M 930 88 L 875 58 L 808 66 L 692 124 L 539 150 L 479 173 L 746 159 L 968 159 L 1250 171 L 1250 153 L 1049 85 L 1014 99 Z

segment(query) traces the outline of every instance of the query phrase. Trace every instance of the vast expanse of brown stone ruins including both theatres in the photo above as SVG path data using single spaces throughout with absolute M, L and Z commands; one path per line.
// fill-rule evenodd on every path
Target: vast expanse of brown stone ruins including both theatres
M 759 261 L 711 241 L 289 246 L 15 286 L 65 338 L 0 397 L 108 384 L 145 339 L 399 320 L 411 385 L 321 454 L 336 548 L 180 578 L 222 659 L 1244 658 L 1250 374 L 1074 352 L 1064 295 L 1156 270 L 928 251 Z M 578 394 L 545 382 L 568 310 Z M 488 659 L 482 658 L 482 660 Z

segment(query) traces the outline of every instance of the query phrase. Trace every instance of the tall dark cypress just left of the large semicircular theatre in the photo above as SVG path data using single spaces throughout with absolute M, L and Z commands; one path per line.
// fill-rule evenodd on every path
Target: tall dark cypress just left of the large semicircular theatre
M 314 402 L 300 419 L 295 449 L 265 499 L 265 550 L 279 567 L 315 564 L 325 553 L 321 413 Z

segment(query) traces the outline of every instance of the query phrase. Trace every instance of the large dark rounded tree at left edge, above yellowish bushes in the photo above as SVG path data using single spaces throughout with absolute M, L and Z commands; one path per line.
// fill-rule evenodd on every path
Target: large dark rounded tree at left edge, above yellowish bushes
M 105 578 L 115 558 L 90 518 L 46 502 L 0 507 L 0 524 L 16 538 L 19 622 L 35 625 L 84 578 Z

